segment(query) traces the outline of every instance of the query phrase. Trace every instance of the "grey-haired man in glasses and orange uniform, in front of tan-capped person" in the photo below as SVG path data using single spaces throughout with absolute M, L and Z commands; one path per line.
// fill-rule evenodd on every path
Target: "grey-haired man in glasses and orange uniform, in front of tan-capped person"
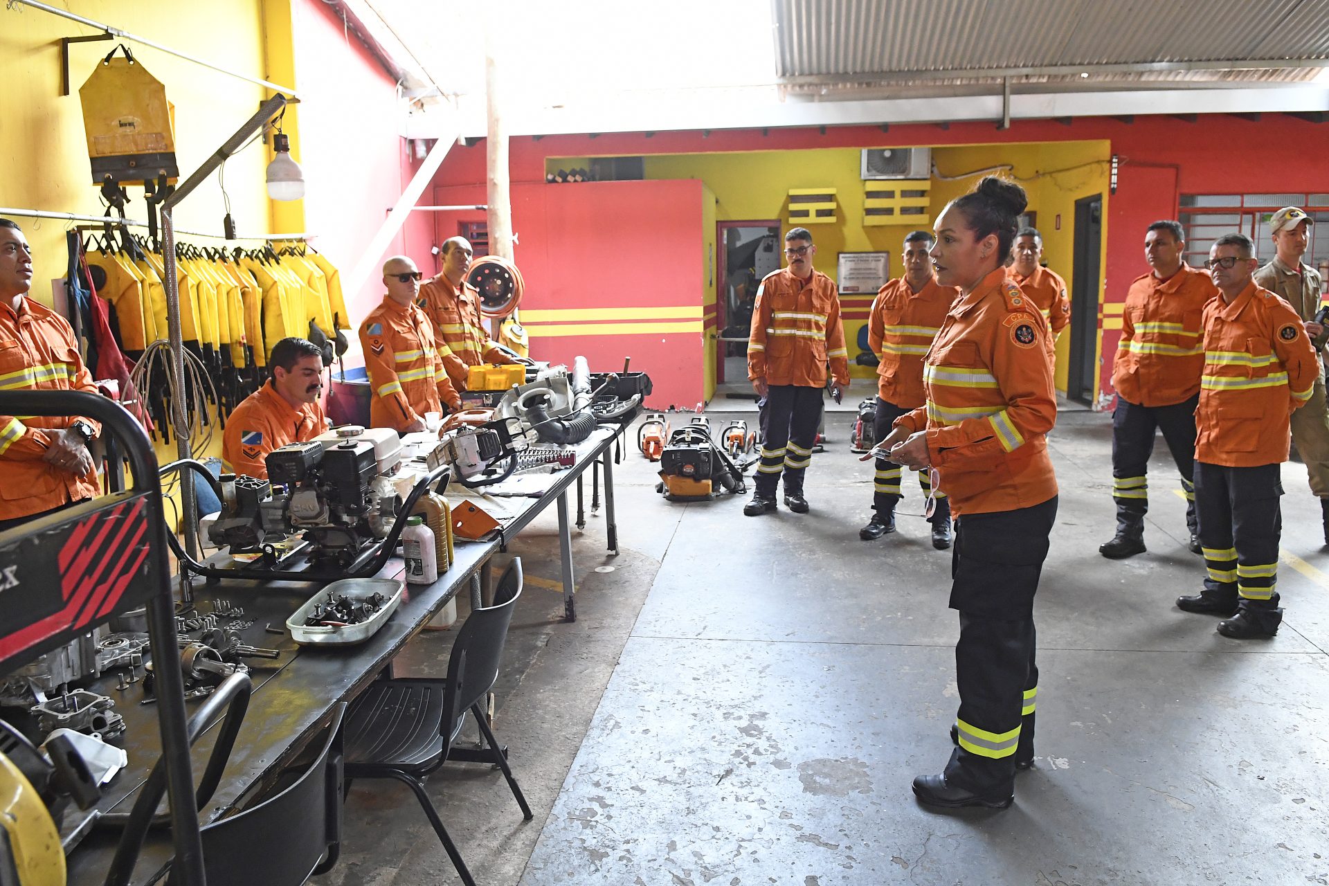
M 1280 465 L 1288 460 L 1292 410 L 1320 373 L 1301 317 L 1252 279 L 1255 243 L 1225 234 L 1209 250 L 1223 298 L 1204 308 L 1204 376 L 1195 440 L 1195 502 L 1208 576 L 1179 596 L 1187 612 L 1228 616 L 1219 634 L 1273 636 L 1278 608 Z

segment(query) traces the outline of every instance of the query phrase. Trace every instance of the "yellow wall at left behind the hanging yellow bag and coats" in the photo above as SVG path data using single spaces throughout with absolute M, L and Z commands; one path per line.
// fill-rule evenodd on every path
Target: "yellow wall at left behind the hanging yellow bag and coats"
M 154 40 L 250 77 L 292 85 L 290 0 L 229 0 L 213 4 L 171 0 L 68 0 L 70 12 Z M 282 23 L 286 23 L 283 29 Z M 116 41 L 70 44 L 70 94 L 60 94 L 60 39 L 89 36 L 93 28 L 25 7 L 0 5 L 0 206 L 101 215 L 92 183 L 78 88 Z M 270 96 L 247 84 L 167 53 L 129 44 L 134 58 L 166 88 L 175 105 L 175 158 L 181 179 L 207 159 Z M 294 113 L 284 129 L 298 155 Z M 267 198 L 264 169 L 271 158 L 262 141 L 226 163 L 231 215 L 242 234 L 302 231 L 299 202 L 276 206 Z M 126 215 L 146 221 L 142 187 L 129 187 Z M 182 230 L 222 232 L 226 209 L 218 178 L 198 187 L 175 210 Z M 64 275 L 65 222 L 15 217 L 33 248 L 33 296 L 51 304 L 52 280 Z M 282 227 L 291 224 L 292 227 Z M 141 231 L 146 235 L 146 230 Z M 158 446 L 174 458 L 174 442 Z M 209 454 L 221 453 L 214 432 Z

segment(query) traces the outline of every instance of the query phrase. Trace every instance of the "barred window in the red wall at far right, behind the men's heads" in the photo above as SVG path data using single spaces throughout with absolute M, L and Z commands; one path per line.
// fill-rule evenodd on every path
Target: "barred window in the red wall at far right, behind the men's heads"
M 1224 234 L 1245 234 L 1255 240 L 1261 262 L 1273 258 L 1269 217 L 1284 206 L 1300 206 L 1314 219 L 1302 260 L 1329 280 L 1329 194 L 1183 194 L 1180 218 L 1185 228 L 1185 262 L 1192 267 L 1209 258 L 1213 240 Z

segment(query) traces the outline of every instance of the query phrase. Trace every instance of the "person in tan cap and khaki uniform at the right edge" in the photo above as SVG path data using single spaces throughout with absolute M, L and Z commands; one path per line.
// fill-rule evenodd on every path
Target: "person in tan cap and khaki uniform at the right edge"
M 1273 260 L 1255 272 L 1257 286 L 1281 296 L 1305 323 L 1316 353 L 1322 353 L 1325 327 L 1316 323 L 1324 296 L 1320 274 L 1301 256 L 1306 254 L 1310 226 L 1316 221 L 1297 206 L 1284 206 L 1269 217 L 1269 235 L 1276 254 Z M 1325 408 L 1325 371 L 1317 359 L 1318 373 L 1306 405 L 1292 413 L 1292 440 L 1310 476 L 1310 491 L 1320 499 L 1324 515 L 1325 543 L 1329 543 L 1329 410 Z

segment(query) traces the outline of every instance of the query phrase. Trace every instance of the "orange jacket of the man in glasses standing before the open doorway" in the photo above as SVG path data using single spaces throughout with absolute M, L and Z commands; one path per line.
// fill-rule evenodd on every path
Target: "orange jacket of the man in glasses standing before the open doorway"
M 813 271 L 807 282 L 788 268 L 767 274 L 752 307 L 748 379 L 821 388 L 828 360 L 836 383 L 848 387 L 849 351 L 835 283 L 821 271 Z

